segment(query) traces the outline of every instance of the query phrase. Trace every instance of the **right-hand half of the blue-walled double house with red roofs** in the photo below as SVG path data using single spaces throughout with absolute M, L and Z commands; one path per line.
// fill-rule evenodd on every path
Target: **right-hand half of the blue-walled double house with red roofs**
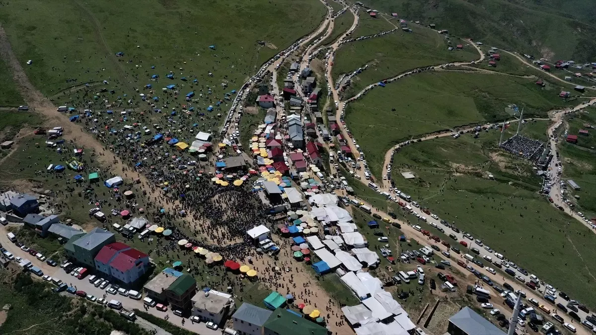
M 123 283 L 134 283 L 145 274 L 149 265 L 149 256 L 136 249 L 120 252 L 110 262 L 111 277 Z

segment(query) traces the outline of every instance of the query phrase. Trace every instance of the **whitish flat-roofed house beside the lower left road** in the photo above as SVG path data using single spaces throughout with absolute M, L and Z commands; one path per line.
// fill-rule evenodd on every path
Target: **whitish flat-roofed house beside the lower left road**
M 216 290 L 203 290 L 194 296 L 193 314 L 203 321 L 221 324 L 234 309 L 234 299 L 230 294 Z

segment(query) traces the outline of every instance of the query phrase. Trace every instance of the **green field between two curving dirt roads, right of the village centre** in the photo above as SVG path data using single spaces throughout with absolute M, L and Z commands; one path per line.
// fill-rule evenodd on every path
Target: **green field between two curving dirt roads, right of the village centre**
M 406 139 L 485 120 L 509 119 L 505 108 L 510 104 L 526 104 L 527 117 L 544 117 L 554 106 L 569 105 L 557 97 L 554 88 L 548 88 L 535 85 L 532 79 L 511 76 L 420 73 L 375 88 L 350 103 L 346 123 L 379 178 L 386 151 Z M 371 133 L 373 128 L 378 132 Z

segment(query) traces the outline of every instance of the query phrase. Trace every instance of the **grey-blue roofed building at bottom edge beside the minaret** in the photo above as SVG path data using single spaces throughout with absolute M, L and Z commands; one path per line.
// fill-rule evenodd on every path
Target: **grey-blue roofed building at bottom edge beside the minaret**
M 451 335 L 505 335 L 499 327 L 469 307 L 462 308 L 449 318 L 447 333 Z

